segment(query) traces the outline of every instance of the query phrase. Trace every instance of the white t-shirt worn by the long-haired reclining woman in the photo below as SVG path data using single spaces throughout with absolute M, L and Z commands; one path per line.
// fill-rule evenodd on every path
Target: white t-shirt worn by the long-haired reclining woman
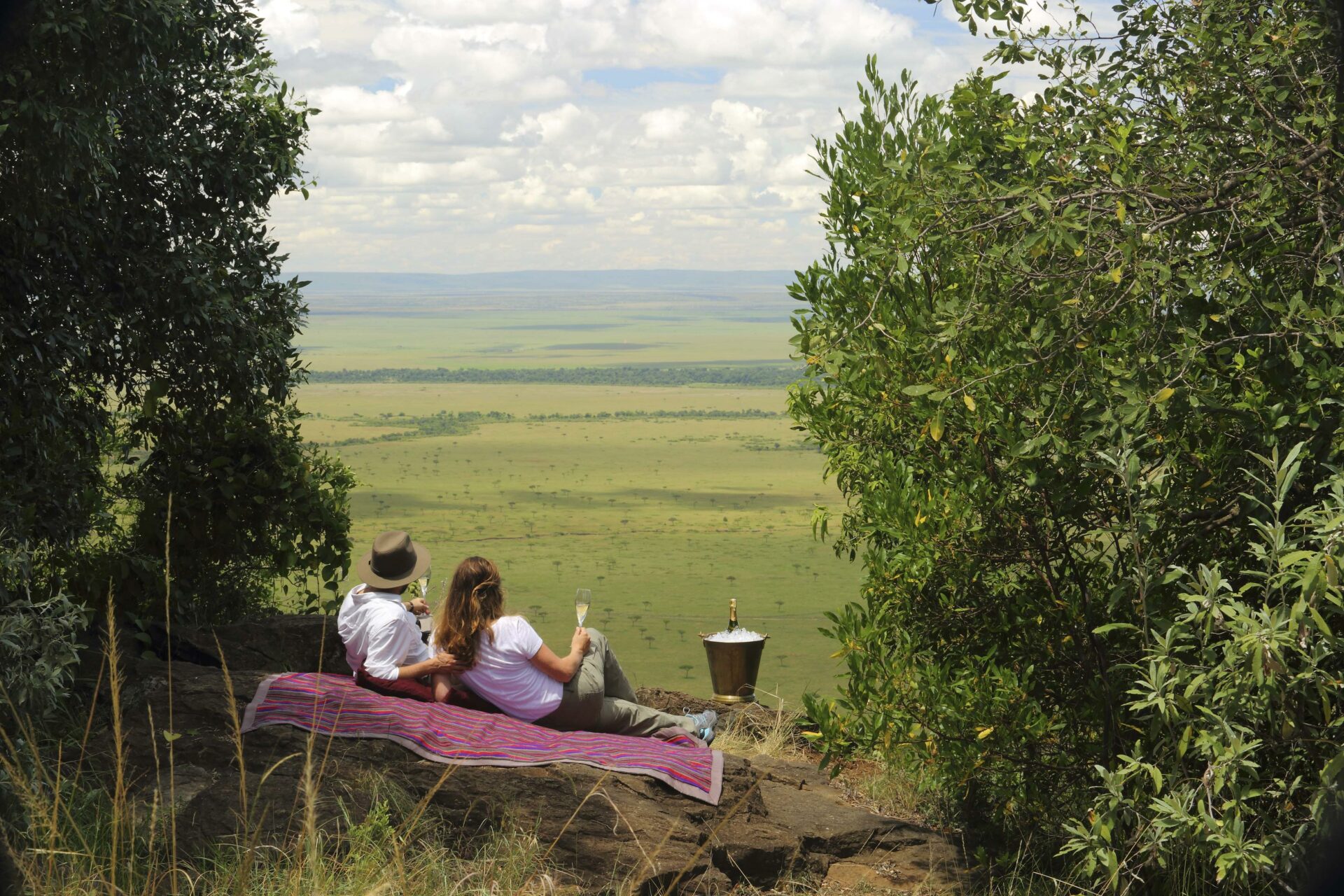
M 542 635 L 523 617 L 500 617 L 493 629 L 493 643 L 485 631 L 476 635 L 476 665 L 458 678 L 513 719 L 536 721 L 554 712 L 564 685 L 532 665 Z

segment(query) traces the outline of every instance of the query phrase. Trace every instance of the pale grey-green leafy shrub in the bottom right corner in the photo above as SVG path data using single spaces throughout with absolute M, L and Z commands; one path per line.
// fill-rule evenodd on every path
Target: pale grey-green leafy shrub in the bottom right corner
M 1263 516 L 1242 562 L 1173 568 L 1183 606 L 1141 634 L 1126 676 L 1140 731 L 1097 768 L 1087 819 L 1067 826 L 1064 854 L 1098 885 L 1189 892 L 1290 879 L 1339 799 L 1344 477 L 1289 514 L 1301 447 L 1262 458 L 1263 478 L 1249 473 L 1246 497 Z M 1134 485 L 1136 501 L 1153 500 Z

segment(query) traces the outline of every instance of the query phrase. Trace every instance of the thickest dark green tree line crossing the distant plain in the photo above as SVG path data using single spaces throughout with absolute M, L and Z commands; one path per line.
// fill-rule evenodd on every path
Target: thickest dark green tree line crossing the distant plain
M 573 386 L 759 386 L 785 387 L 802 376 L 792 364 L 759 367 L 552 367 L 484 369 L 476 367 L 379 367 L 312 371 L 312 383 L 560 383 Z

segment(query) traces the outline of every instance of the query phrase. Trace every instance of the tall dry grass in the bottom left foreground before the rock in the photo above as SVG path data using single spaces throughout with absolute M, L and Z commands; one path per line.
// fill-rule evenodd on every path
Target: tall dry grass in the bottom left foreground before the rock
M 164 748 L 173 739 L 164 737 L 164 744 L 155 747 L 155 760 L 161 763 L 160 780 L 167 783 L 168 793 L 156 789 L 148 797 L 133 794 L 126 780 L 122 657 L 110 602 L 108 631 L 112 635 L 103 649 L 82 737 L 54 740 L 27 721 L 16 731 L 0 731 L 0 783 L 19 809 L 19 818 L 0 823 L 5 826 L 24 892 L 34 896 L 556 892 L 560 876 L 546 861 L 548 849 L 527 830 L 504 825 L 445 842 L 442 830 L 425 814 L 433 791 L 415 801 L 376 775 L 362 787 L 371 795 L 366 813 L 356 817 L 345 811 L 333 829 L 320 830 L 313 811 L 323 759 L 317 737 L 308 740 L 304 756 L 308 774 L 301 778 L 294 801 L 293 827 L 298 834 L 289 844 L 259 844 L 257 819 L 249 814 L 249 787 L 259 782 L 243 778 L 238 795 L 239 842 L 220 846 L 212 856 L 179 857 L 176 814 L 168 797 L 173 786 L 172 752 Z M 85 755 L 91 737 L 102 733 L 94 724 L 99 696 L 110 713 L 106 735 L 112 767 L 106 771 L 91 770 Z M 4 695 L 0 699 L 7 700 Z M 246 768 L 238 708 L 231 695 L 230 704 L 238 763 Z M 11 704 L 9 709 L 13 712 L 15 707 Z M 450 772 L 452 768 L 445 770 L 438 786 Z

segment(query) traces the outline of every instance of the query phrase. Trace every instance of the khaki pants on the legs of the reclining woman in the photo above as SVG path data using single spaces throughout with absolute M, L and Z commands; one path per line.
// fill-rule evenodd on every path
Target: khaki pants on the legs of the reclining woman
M 640 705 L 606 635 L 597 629 L 585 630 L 593 643 L 583 654 L 578 673 L 564 682 L 560 705 L 538 719 L 536 724 L 556 731 L 601 731 L 640 737 L 664 728 L 695 731 L 685 716 Z

